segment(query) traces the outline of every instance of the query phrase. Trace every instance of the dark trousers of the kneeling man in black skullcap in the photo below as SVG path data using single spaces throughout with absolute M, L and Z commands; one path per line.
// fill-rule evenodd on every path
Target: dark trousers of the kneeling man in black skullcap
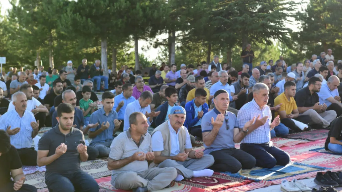
M 216 172 L 237 173 L 241 168 L 251 169 L 255 166 L 255 158 L 240 149 L 221 149 L 210 154 L 215 162 L 209 168 Z

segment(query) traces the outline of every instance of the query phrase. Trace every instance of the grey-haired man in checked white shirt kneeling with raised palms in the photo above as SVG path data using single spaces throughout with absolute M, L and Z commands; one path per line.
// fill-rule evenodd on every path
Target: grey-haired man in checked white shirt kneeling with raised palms
M 253 100 L 246 103 L 237 115 L 236 127 L 244 127 L 245 124 L 254 119 L 255 122 L 244 131 L 247 131 L 241 141 L 240 148 L 251 154 L 256 166 L 272 168 L 275 165 L 287 165 L 290 156 L 285 151 L 272 146 L 270 131 L 279 125 L 279 117 L 275 117 L 271 123 L 271 109 L 267 106 L 268 86 L 257 83 L 253 86 Z

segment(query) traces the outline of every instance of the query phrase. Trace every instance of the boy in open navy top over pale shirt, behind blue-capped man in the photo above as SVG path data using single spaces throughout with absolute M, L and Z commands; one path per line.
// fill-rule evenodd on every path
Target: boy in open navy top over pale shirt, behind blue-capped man
M 156 126 L 159 126 L 161 123 L 169 120 L 169 114 L 171 112 L 171 108 L 174 105 L 177 105 L 177 100 L 178 100 L 177 90 L 173 87 L 166 88 L 165 97 L 168 100 L 168 102 L 165 102 L 164 104 L 160 105 L 156 109 L 156 112 L 160 111 L 160 114 L 156 117 L 156 120 L 155 120 Z

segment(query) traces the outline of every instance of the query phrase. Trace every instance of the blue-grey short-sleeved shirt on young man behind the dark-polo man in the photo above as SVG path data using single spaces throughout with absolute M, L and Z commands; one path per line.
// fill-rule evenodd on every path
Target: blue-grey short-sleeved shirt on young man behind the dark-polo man
M 108 116 L 106 115 L 105 110 L 103 107 L 101 109 L 98 109 L 95 111 L 93 114 L 91 114 L 89 123 L 98 123 L 98 126 L 96 128 L 91 128 L 89 131 L 96 131 L 101 128 L 101 124 L 104 122 L 106 123 L 107 121 L 109 122 L 109 128 L 102 131 L 100 134 L 98 134 L 95 138 L 92 139 L 91 145 L 95 143 L 103 143 L 103 142 L 108 142 L 112 141 L 114 139 L 113 137 L 113 131 L 115 128 L 114 124 L 114 119 L 118 119 L 118 114 L 114 109 L 112 109 Z

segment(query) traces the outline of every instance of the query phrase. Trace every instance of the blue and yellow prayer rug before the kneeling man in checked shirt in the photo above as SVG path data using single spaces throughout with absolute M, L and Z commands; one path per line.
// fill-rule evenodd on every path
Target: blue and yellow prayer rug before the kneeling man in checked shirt
M 286 166 L 277 165 L 273 168 L 254 167 L 252 169 L 241 169 L 239 173 L 228 173 L 228 175 L 243 179 L 248 178 L 255 181 L 272 181 L 304 173 L 323 171 L 325 169 L 328 168 L 314 165 L 305 165 L 302 163 L 290 163 Z

